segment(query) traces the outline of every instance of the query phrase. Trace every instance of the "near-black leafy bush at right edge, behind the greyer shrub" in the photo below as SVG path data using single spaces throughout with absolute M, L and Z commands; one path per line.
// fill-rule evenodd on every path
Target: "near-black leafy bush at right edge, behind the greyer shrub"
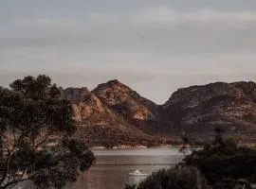
M 222 129 L 215 131 L 215 141 L 187 156 L 185 164 L 196 166 L 215 188 L 232 189 L 240 179 L 255 182 L 256 150 L 239 147 L 230 137 L 224 139 Z

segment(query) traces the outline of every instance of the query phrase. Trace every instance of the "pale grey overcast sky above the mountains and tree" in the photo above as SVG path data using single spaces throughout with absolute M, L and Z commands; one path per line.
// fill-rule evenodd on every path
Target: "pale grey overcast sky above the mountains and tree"
M 255 0 L 0 0 L 0 85 L 119 79 L 162 104 L 178 88 L 256 80 Z

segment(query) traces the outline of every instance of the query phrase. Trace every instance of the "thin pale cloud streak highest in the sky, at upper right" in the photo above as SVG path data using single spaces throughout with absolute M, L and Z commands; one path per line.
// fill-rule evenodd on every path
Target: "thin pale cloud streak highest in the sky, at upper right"
M 205 22 L 242 22 L 242 24 L 256 22 L 253 11 L 217 11 L 214 9 L 195 9 L 189 11 L 175 10 L 168 7 L 145 9 L 132 16 L 138 23 L 205 23 Z

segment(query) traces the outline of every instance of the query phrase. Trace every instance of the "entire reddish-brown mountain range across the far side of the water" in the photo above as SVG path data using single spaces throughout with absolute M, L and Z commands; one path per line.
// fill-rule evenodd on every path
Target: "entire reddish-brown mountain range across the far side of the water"
M 103 146 L 180 142 L 186 132 L 196 141 L 213 138 L 221 127 L 240 143 L 256 142 L 256 83 L 216 82 L 177 90 L 163 105 L 140 96 L 119 80 L 87 88 L 67 88 L 78 135 Z

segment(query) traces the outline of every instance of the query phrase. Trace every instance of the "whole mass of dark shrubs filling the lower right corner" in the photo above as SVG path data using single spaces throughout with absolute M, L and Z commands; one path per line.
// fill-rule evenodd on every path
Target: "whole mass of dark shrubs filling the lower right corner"
M 126 189 L 251 189 L 256 182 L 256 150 L 237 146 L 216 129 L 215 140 L 193 151 L 182 163 L 153 173 Z

